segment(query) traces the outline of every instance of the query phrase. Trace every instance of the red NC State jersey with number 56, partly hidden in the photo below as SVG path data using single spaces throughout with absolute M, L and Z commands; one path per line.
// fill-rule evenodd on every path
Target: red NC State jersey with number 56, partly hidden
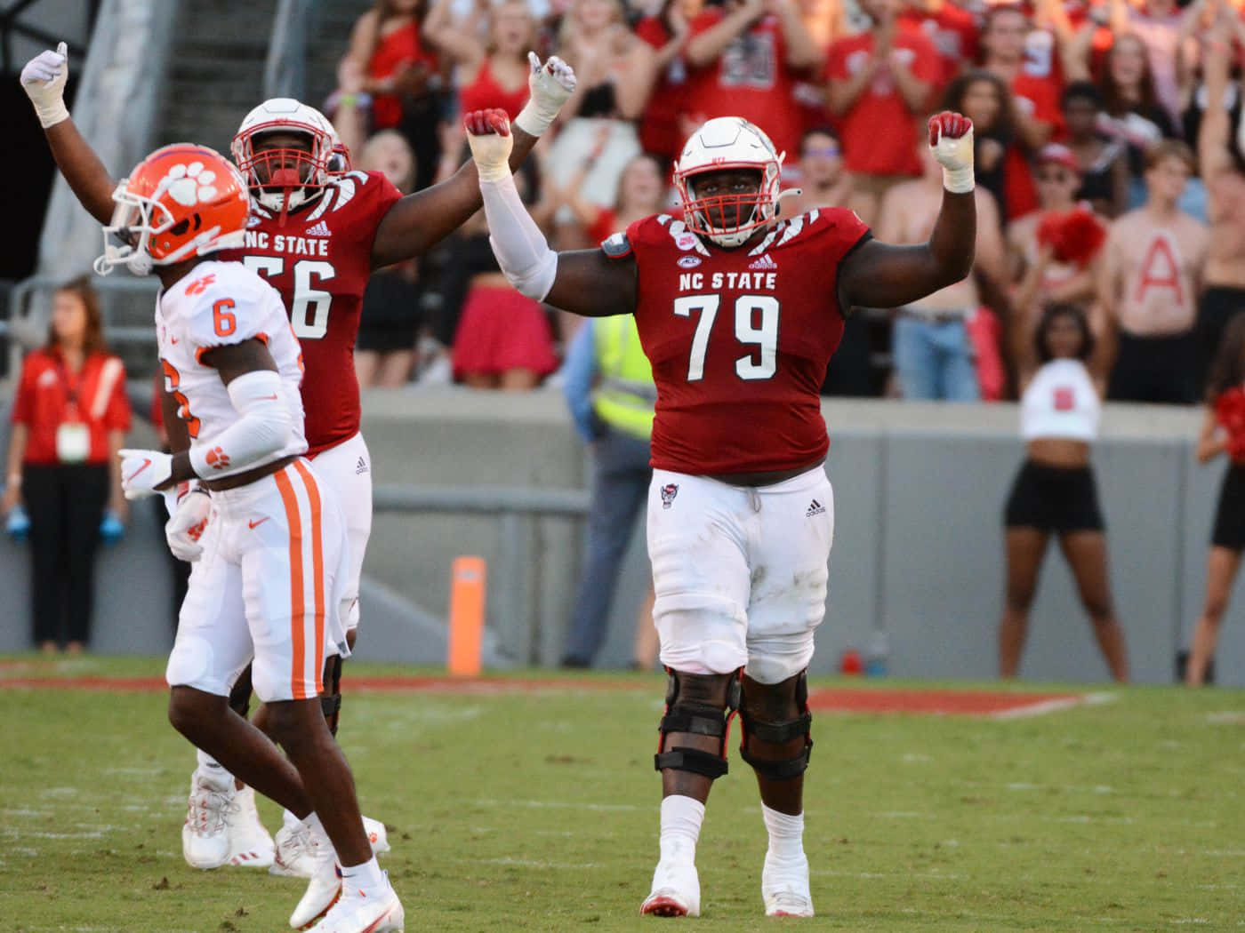
M 401 198 L 380 172 L 335 178 L 306 210 L 278 215 L 251 202 L 247 246 L 225 250 L 281 292 L 303 346 L 303 408 L 310 454 L 359 433 L 355 337 L 372 274 L 376 228 Z

